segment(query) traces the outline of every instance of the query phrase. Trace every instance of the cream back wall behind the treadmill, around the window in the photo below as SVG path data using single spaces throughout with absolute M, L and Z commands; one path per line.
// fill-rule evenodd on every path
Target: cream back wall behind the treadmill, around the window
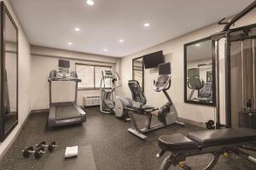
M 75 63 L 109 65 L 114 69 L 119 59 L 95 54 L 83 54 L 73 51 L 32 46 L 32 110 L 49 109 L 49 71 L 56 70 L 57 57 L 70 59 L 71 71 Z M 89 61 L 93 60 L 93 61 Z M 52 82 L 52 101 L 73 101 L 75 82 Z M 84 95 L 100 95 L 100 90 L 79 90 L 78 104 L 83 105 Z

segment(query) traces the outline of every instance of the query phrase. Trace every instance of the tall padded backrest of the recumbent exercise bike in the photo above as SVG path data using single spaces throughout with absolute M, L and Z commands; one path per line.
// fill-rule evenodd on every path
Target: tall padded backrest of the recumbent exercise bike
M 146 105 L 147 99 L 143 94 L 143 89 L 140 87 L 139 82 L 137 82 L 136 80 L 130 80 L 128 82 L 128 86 L 131 90 L 132 100 L 139 103 L 140 105 Z

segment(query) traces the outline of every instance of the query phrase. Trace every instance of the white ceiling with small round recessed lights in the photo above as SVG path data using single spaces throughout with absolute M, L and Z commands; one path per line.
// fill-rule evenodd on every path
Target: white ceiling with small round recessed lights
M 122 57 L 237 14 L 253 0 L 11 0 L 33 45 Z M 148 22 L 149 27 L 143 24 Z M 74 31 L 79 27 L 81 31 Z M 120 43 L 119 39 L 125 42 Z M 72 46 L 67 42 L 73 42 Z M 108 52 L 103 49 L 108 48 Z

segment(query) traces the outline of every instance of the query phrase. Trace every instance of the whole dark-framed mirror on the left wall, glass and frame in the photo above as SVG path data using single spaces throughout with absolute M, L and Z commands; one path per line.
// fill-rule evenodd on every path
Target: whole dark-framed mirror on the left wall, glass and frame
M 18 28 L 1 3 L 1 140 L 18 124 Z

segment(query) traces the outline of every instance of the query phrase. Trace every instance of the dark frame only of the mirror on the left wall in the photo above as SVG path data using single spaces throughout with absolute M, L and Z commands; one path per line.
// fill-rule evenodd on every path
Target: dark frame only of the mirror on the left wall
M 16 42 L 16 52 L 17 52 L 17 62 L 16 62 L 16 73 L 17 73 L 17 80 L 16 80 L 16 93 L 17 93 L 17 98 L 16 98 L 16 105 L 17 105 L 17 114 L 16 114 L 16 121 L 14 122 L 14 124 L 12 125 L 12 127 L 9 128 L 9 130 L 7 132 L 5 132 L 4 129 L 4 119 L 3 119 L 3 81 L 1 81 L 1 104 L 0 104 L 0 111 L 1 111 L 1 116 L 0 116 L 0 140 L 3 142 L 4 139 L 7 138 L 7 136 L 9 135 L 9 133 L 11 133 L 13 131 L 13 129 L 18 125 L 19 122 L 19 29 L 15 24 L 15 20 L 13 19 L 13 17 L 11 16 L 11 14 L 9 13 L 8 8 L 5 6 L 5 4 L 3 2 L 1 2 L 1 66 L 0 66 L 0 71 L 1 71 L 1 80 L 3 80 L 3 69 L 5 69 L 5 52 L 4 52 L 4 47 L 5 47 L 5 14 L 8 15 L 9 20 L 12 22 L 13 26 L 15 27 L 16 30 L 16 38 L 17 38 L 17 42 Z

